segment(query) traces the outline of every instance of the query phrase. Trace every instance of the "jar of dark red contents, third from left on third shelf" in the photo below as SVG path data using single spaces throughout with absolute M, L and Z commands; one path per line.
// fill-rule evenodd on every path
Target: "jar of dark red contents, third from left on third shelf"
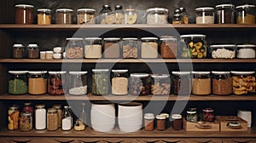
M 60 95 L 65 94 L 65 74 L 67 72 L 49 72 L 48 77 L 48 94 Z

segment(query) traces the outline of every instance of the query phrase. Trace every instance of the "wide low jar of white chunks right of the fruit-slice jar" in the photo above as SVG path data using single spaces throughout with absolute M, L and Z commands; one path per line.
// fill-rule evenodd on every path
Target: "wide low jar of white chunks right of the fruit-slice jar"
M 213 59 L 234 59 L 236 57 L 235 44 L 211 45 Z

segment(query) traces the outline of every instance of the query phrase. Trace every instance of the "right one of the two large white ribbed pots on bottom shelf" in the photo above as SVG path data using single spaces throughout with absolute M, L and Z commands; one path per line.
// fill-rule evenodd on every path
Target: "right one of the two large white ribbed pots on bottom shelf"
M 136 132 L 142 129 L 143 105 L 137 102 L 119 104 L 119 129 L 124 132 Z

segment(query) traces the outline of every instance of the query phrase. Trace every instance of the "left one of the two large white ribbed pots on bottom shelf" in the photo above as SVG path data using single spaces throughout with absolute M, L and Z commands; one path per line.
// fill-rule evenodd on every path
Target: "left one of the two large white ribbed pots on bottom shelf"
M 91 105 L 90 123 L 92 129 L 110 132 L 115 124 L 115 110 L 111 102 L 96 102 Z

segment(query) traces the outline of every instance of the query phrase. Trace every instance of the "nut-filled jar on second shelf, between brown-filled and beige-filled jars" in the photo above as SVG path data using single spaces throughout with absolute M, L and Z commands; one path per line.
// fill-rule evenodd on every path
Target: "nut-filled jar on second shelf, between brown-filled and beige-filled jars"
M 123 58 L 138 58 L 139 45 L 136 37 L 123 38 Z

